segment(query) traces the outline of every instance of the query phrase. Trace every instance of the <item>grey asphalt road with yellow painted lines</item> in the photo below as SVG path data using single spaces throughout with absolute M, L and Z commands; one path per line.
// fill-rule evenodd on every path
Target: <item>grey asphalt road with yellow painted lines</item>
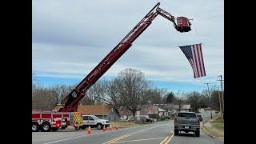
M 145 126 L 136 126 L 126 129 L 92 130 L 93 134 L 86 134 L 86 130 L 59 131 L 59 132 L 35 132 L 32 133 L 33 143 L 63 143 L 63 144 L 106 144 L 106 143 L 130 143 L 130 144 L 218 144 L 224 143 L 218 139 L 210 138 L 201 130 L 201 136 L 194 134 L 180 134 L 174 136 L 174 122 L 154 122 Z

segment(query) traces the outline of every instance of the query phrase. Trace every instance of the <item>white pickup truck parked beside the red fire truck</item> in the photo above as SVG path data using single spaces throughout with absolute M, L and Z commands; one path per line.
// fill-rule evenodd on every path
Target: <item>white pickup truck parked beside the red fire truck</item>
M 101 130 L 103 126 L 110 126 L 110 122 L 106 119 L 99 119 L 95 115 L 82 115 L 82 130 L 85 130 L 86 127 L 97 127 L 98 130 Z

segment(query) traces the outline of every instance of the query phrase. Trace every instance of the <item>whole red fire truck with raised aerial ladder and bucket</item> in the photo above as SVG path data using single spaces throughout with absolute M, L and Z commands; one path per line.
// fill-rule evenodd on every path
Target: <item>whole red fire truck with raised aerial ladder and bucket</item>
M 58 130 L 59 127 L 65 129 L 66 126 L 78 127 L 82 121 L 82 114 L 77 113 L 78 103 L 80 100 L 86 96 L 86 91 L 89 90 L 90 86 L 94 85 L 103 74 L 132 46 L 132 42 L 150 24 L 153 22 L 154 18 L 160 14 L 162 17 L 168 19 L 170 22 L 174 23 L 174 28 L 179 32 L 188 32 L 191 30 L 190 21 L 186 17 L 174 18 L 173 15 L 162 10 L 160 7 L 160 2 L 150 10 L 148 14 L 138 24 L 107 54 L 106 57 L 66 96 L 62 101 L 62 108 L 58 112 L 53 111 L 32 111 L 32 131 L 49 131 Z M 177 24 L 176 22 L 177 21 Z

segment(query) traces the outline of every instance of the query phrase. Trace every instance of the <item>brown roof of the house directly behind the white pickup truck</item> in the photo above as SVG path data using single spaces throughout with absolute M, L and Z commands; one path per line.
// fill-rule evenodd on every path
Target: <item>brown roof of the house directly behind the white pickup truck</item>
M 55 106 L 54 110 L 59 110 L 59 108 L 62 108 L 63 106 Z M 110 114 L 112 108 L 115 109 L 113 105 L 78 105 L 78 112 L 82 112 L 82 114 L 88 114 L 88 115 L 108 115 Z M 118 113 L 118 110 L 117 110 Z

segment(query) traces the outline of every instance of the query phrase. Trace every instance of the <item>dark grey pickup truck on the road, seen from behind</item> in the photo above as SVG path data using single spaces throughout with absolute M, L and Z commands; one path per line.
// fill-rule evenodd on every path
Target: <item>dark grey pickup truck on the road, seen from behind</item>
M 200 137 L 200 120 L 194 112 L 179 112 L 174 118 L 174 135 L 178 135 L 179 131 L 192 131 Z

